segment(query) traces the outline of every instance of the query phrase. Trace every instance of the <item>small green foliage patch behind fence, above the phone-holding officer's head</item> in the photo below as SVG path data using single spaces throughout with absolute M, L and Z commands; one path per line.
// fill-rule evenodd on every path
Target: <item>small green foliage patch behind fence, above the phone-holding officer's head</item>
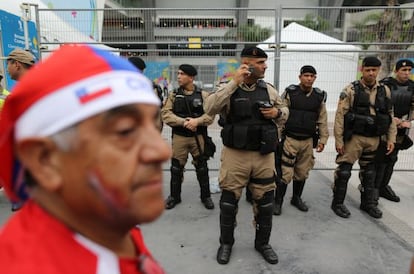
M 227 40 L 237 40 L 244 42 L 261 42 L 272 35 L 271 28 L 264 28 L 260 25 L 244 24 L 236 29 L 229 30 L 224 38 Z

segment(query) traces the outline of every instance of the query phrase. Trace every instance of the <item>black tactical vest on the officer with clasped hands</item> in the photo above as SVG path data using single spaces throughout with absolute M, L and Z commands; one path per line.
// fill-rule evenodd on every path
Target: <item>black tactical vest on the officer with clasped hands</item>
M 173 112 L 175 115 L 181 118 L 197 118 L 204 114 L 203 96 L 197 86 L 194 86 L 194 92 L 190 95 L 186 95 L 182 88 L 174 91 L 174 93 Z M 173 127 L 172 133 L 187 137 L 194 136 L 194 132 L 182 126 Z M 207 133 L 207 127 L 198 126 L 197 134 L 203 133 Z

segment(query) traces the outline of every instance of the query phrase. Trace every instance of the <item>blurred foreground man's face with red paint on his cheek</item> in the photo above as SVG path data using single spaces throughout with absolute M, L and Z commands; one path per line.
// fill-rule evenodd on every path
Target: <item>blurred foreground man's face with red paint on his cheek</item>
M 79 124 L 73 149 L 60 152 L 59 194 L 75 214 L 125 227 L 162 213 L 162 163 L 171 149 L 155 127 L 157 110 L 124 106 Z

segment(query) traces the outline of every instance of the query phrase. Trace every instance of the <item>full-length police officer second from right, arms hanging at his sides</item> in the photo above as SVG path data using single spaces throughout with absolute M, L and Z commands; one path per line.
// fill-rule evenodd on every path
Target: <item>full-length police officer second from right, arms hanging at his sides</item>
M 393 120 L 391 93 L 376 80 L 381 61 L 365 57 L 361 80 L 354 81 L 342 91 L 335 115 L 334 135 L 338 153 L 331 208 L 340 217 L 351 213 L 344 205 L 352 166 L 359 161 L 361 180 L 360 209 L 374 218 L 381 218 L 378 209 L 378 189 L 375 188 L 375 154 L 380 136 L 386 135 L 386 150 L 394 150 L 397 129 Z

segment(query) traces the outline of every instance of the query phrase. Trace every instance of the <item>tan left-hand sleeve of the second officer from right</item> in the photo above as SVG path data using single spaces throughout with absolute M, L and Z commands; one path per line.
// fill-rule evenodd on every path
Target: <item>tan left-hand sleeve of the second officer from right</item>
M 353 94 L 352 85 L 345 87 L 339 95 L 338 106 L 335 113 L 334 137 L 335 146 L 342 147 L 344 145 L 344 116 L 351 106 L 351 94 Z

